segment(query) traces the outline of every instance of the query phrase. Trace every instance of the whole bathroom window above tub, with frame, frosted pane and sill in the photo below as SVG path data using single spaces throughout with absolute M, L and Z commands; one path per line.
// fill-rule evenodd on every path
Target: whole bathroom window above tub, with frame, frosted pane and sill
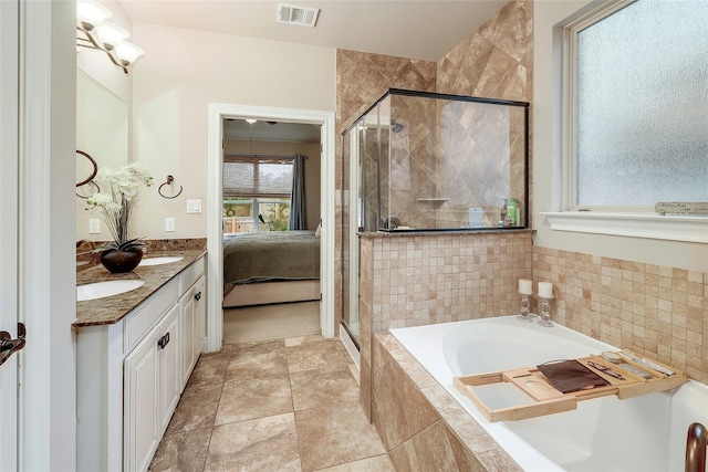
M 708 1 L 600 2 L 555 29 L 554 231 L 708 244 Z M 591 7 L 593 8 L 593 7 Z M 582 17 L 581 17 L 582 15 Z

